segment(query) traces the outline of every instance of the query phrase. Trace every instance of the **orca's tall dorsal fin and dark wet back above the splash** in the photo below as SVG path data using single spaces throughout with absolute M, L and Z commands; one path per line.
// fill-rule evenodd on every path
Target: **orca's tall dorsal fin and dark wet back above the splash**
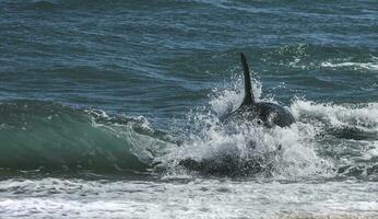
M 295 123 L 294 116 L 285 107 L 271 102 L 258 102 L 252 92 L 249 67 L 246 56 L 240 53 L 245 80 L 245 96 L 240 106 L 223 118 L 223 123 L 256 119 L 267 127 L 290 127 Z

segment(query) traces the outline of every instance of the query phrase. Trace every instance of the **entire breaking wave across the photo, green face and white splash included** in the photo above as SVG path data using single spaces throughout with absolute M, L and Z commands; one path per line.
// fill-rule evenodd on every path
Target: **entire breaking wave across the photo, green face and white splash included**
M 333 104 L 293 99 L 291 127 L 222 124 L 240 104 L 240 79 L 214 89 L 172 136 L 144 117 L 109 116 L 51 102 L 0 104 L 1 170 L 163 172 L 275 178 L 378 177 L 378 103 Z M 261 94 L 255 81 L 255 96 Z M 284 105 L 284 104 L 283 104 Z

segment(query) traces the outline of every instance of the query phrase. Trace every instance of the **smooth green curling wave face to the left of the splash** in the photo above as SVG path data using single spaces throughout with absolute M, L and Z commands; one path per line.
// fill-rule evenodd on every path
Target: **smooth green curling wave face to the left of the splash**
M 115 120 L 99 111 L 38 101 L 2 103 L 0 112 L 4 170 L 145 171 L 149 158 L 134 152 L 140 146 L 133 139 L 158 145 L 142 117 Z

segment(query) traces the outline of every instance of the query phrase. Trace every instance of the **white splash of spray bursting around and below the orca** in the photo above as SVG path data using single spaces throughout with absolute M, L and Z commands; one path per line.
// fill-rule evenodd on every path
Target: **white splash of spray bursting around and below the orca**
M 182 174 L 182 168 L 190 173 L 279 178 L 332 172 L 332 164 L 316 153 L 318 128 L 315 125 L 300 120 L 288 128 L 267 128 L 252 120 L 222 124 L 220 117 L 236 110 L 243 100 L 241 80 L 236 81 L 228 89 L 213 90 L 210 106 L 188 115 L 190 126 L 194 127 L 188 138 L 180 147 L 157 158 L 160 163 L 174 170 L 169 174 L 175 171 Z M 261 96 L 260 82 L 255 83 L 253 95 L 267 101 Z

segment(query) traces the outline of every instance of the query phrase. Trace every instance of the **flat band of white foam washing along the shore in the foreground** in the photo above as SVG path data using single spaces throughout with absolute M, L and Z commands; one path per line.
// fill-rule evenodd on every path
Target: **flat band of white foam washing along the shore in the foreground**
M 1 218 L 375 218 L 374 182 L 0 181 Z

